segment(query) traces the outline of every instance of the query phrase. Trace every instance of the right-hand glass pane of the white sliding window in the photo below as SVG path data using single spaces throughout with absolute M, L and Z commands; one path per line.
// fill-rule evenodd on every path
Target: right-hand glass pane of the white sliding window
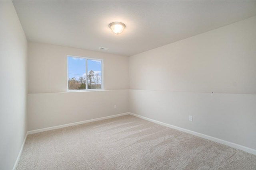
M 87 60 L 88 89 L 102 88 L 102 62 L 100 60 Z

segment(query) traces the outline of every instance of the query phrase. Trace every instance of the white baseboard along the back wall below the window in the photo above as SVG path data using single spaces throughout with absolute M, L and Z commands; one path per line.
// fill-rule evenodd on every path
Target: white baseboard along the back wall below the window
M 34 134 L 34 133 L 39 133 L 39 132 L 44 132 L 44 131 L 50 131 L 50 130 L 54 130 L 54 129 L 60 129 L 60 128 L 63 128 L 63 127 L 69 127 L 69 126 L 74 126 L 74 125 L 80 125 L 80 124 L 89 123 L 89 122 L 93 122 L 93 121 L 99 121 L 99 120 L 104 120 L 104 119 L 110 119 L 110 118 L 113 118 L 113 117 L 119 117 L 119 116 L 128 115 L 128 114 L 130 114 L 130 113 L 127 112 L 127 113 L 121 113 L 121 114 L 117 114 L 117 115 L 111 115 L 111 116 L 106 116 L 106 117 L 100 117 L 100 118 L 96 118 L 96 119 L 90 119 L 90 120 L 85 120 L 85 121 L 79 121 L 79 122 L 74 122 L 74 123 L 68 123 L 68 124 L 64 124 L 64 125 L 58 125 L 58 126 L 53 126 L 53 127 L 46 127 L 46 128 L 43 128 L 43 129 L 37 129 L 37 130 L 28 131 L 28 135 Z

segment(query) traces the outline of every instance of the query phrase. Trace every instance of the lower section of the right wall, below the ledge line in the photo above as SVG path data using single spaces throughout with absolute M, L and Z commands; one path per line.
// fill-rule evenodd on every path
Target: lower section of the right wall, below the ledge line
M 256 149 L 256 95 L 129 90 L 129 102 L 132 113 Z

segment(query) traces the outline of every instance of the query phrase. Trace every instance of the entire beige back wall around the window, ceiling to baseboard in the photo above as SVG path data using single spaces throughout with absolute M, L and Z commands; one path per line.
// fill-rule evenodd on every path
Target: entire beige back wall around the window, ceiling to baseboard
M 67 55 L 103 59 L 104 91 L 67 92 Z M 128 77 L 128 57 L 29 42 L 28 130 L 128 112 Z

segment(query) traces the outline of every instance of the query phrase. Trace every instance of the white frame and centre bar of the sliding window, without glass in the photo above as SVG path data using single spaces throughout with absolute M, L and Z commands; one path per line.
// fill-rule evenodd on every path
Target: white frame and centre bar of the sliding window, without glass
M 85 67 L 86 67 L 86 89 L 81 90 L 69 90 L 68 89 L 68 57 L 82 58 L 85 59 Z M 88 67 L 87 60 L 98 60 L 101 61 L 101 88 L 88 89 Z M 67 55 L 67 92 L 90 92 L 90 91 L 103 91 L 104 90 L 104 64 L 103 59 L 91 58 L 91 57 L 80 57 L 74 55 Z

